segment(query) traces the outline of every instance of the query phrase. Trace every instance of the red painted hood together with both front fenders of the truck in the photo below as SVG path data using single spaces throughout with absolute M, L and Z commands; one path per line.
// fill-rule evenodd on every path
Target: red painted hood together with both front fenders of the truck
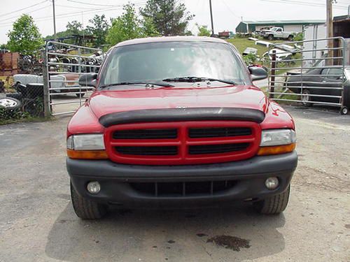
M 161 87 L 158 89 L 103 90 L 92 94 L 69 122 L 67 135 L 103 133 L 99 117 L 111 112 L 159 108 L 227 107 L 251 108 L 265 112 L 262 129 L 295 129 L 293 118 L 281 105 L 269 101 L 253 86 L 227 87 Z

